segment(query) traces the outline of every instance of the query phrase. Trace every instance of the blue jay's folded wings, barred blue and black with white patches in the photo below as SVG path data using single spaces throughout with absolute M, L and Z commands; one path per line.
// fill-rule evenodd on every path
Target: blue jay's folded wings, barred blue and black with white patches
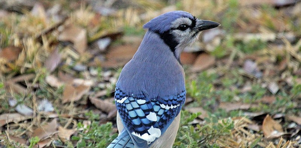
M 184 89 L 185 90 L 185 89 Z M 137 147 L 148 147 L 159 138 L 178 115 L 186 92 L 150 99 L 145 94 L 115 90 L 115 103 L 124 127 Z

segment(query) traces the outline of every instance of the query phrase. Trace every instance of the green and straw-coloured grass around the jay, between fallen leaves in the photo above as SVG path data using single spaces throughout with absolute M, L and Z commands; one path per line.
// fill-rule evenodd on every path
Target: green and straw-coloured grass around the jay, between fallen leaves
M 200 2 L 202 5 L 198 5 L 195 0 L 176 1 L 175 7 L 179 10 L 189 11 L 200 19 L 220 22 L 222 26 L 219 29 L 225 31 L 225 34 L 219 37 L 220 43 L 213 48 L 213 51 L 204 51 L 216 57 L 215 64 L 209 69 L 194 73 L 190 72 L 191 66 L 184 65 L 187 98 L 192 98 L 192 102 L 183 108 L 181 125 L 173 148 L 227 146 L 242 148 L 274 146 L 281 148 L 283 146 L 282 138 L 268 140 L 263 137 L 262 131 L 250 130 L 247 125 L 261 124 L 261 121 L 257 123 L 245 113 L 301 115 L 299 107 L 301 105 L 301 84 L 298 81 L 300 79 L 298 57 L 301 56 L 301 47 L 293 50 L 290 45 L 282 43 L 284 40 L 251 39 L 245 41 L 235 38 L 235 35 L 237 33 L 275 33 L 279 36 L 282 33 L 293 32 L 295 40 L 291 44 L 296 46 L 295 43 L 298 42 L 301 35 L 298 28 L 301 26 L 299 15 L 286 15 L 282 9 L 275 9 L 270 5 L 256 6 L 256 9 L 243 7 L 238 0 L 200 0 Z M 117 10 L 112 16 L 99 16 L 92 9 L 92 6 L 79 5 L 72 1 L 53 1 L 54 3 L 61 4 L 66 10 L 70 17 L 68 21 L 87 31 L 88 46 L 93 49 L 95 40 L 120 30 L 125 36 L 142 37 L 145 33 L 142 25 L 148 21 L 148 19 L 141 17 L 145 16 L 142 14 L 161 11 L 158 8 L 168 6 L 167 3 L 156 3 L 155 6 L 142 0 L 137 4 L 141 4 L 138 8 L 130 6 L 123 10 Z M 69 3 L 77 7 L 70 9 Z M 146 8 L 146 6 L 149 7 Z M 250 15 L 253 13 L 258 15 L 256 17 Z M 152 16 L 152 13 L 147 15 L 150 16 L 146 18 L 155 17 Z M 135 20 L 129 18 L 135 18 Z M 275 22 L 284 23 L 283 30 L 279 30 L 279 24 Z M 67 129 L 76 129 L 76 133 L 65 143 L 60 138 L 52 137 L 53 142 L 49 147 L 103 148 L 117 137 L 115 121 L 107 119 L 108 113 L 100 111 L 91 104 L 85 104 L 85 101 L 89 95 L 105 90 L 106 95 L 100 98 L 112 102 L 115 81 L 106 80 L 103 74 L 110 70 L 113 73 L 110 78 L 117 78 L 121 68 L 102 68 L 99 65 L 93 65 L 91 61 L 95 55 L 91 55 L 90 49 L 82 55 L 78 54 L 73 49 L 72 43 L 62 43 L 57 38 L 60 29 L 54 29 L 49 34 L 42 35 L 41 39 L 34 38 L 36 34 L 54 24 L 55 22 L 51 20 L 49 23 L 45 23 L 43 18 L 32 15 L 28 10 L 24 10 L 24 14 L 12 13 L 0 21 L 1 49 L 17 46 L 23 50 L 14 61 L 0 59 L 0 101 L 2 102 L 0 113 L 15 112 L 14 108 L 8 104 L 9 98 L 14 98 L 18 104 L 27 105 L 35 111 L 35 115 L 29 120 L 10 123 L 2 127 L 0 147 L 33 148 L 36 146 L 40 139 L 38 137 L 29 138 L 27 131 L 40 127 L 40 122 L 48 121 L 45 113 L 36 110 L 37 102 L 35 99 L 44 98 L 54 105 L 55 111 L 53 113 L 58 116 L 58 122 L 61 126 Z M 117 38 L 111 45 L 120 46 L 123 44 L 126 43 Z M 206 44 L 211 44 L 211 42 Z M 278 48 L 279 46 L 283 48 Z M 48 72 L 44 67 L 45 59 L 56 48 L 59 49 L 63 62 L 53 72 Z M 251 59 L 257 64 L 263 73 L 261 78 L 244 72 L 243 64 L 247 59 Z M 278 70 L 283 62 L 285 62 L 284 68 Z M 90 66 L 91 63 L 93 66 Z M 76 64 L 88 65 L 88 69 L 94 69 L 96 75 L 90 75 L 89 70 L 74 71 L 73 67 Z M 45 80 L 49 75 L 58 77 L 59 72 L 82 80 L 91 79 L 95 84 L 82 97 L 82 102 L 63 104 L 63 92 L 66 85 L 52 87 Z M 31 80 L 15 82 L 25 88 L 26 94 L 14 92 L 7 86 L 10 79 L 24 74 L 35 74 Z M 269 90 L 271 82 L 275 82 L 279 86 L 279 90 L 275 94 Z M 275 100 L 266 103 L 262 101 L 265 96 L 272 96 Z M 253 105 L 248 109 L 227 111 L 227 108 L 219 106 L 221 103 Z M 201 113 L 189 113 L 186 109 L 190 107 L 202 107 L 207 111 L 208 116 L 200 118 Z M 295 122 L 288 121 L 285 117 L 280 119 L 285 130 L 292 129 L 289 129 L 288 125 Z M 14 142 L 8 138 L 9 136 L 26 139 L 27 143 Z M 296 138 L 291 137 L 284 140 L 294 142 Z

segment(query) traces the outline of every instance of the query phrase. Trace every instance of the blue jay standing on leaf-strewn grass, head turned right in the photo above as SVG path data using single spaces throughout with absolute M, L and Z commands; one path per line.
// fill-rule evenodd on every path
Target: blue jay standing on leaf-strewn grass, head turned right
M 107 148 L 172 148 L 186 100 L 180 54 L 201 31 L 218 26 L 180 10 L 144 24 L 148 30 L 116 83 L 119 135 Z

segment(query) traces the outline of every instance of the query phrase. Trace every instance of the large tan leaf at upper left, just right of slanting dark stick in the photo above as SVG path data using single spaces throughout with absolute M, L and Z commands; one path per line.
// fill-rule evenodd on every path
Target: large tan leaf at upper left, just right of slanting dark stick
M 84 53 L 87 48 L 87 31 L 73 24 L 69 25 L 58 37 L 61 41 L 71 41 L 76 51 Z

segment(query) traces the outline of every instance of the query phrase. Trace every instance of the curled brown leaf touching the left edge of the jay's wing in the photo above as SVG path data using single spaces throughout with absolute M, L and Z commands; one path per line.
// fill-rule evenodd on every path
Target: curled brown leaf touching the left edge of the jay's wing
M 90 96 L 89 97 L 92 104 L 94 104 L 98 109 L 100 109 L 103 112 L 110 113 L 116 109 L 116 106 L 109 101 L 101 100 L 95 97 Z

